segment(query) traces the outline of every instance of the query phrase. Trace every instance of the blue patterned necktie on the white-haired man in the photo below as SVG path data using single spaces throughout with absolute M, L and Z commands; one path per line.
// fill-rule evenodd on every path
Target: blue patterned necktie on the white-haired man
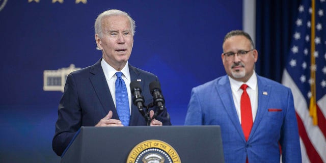
M 116 107 L 120 121 L 124 126 L 129 126 L 130 109 L 127 87 L 124 80 L 121 78 L 122 72 L 116 72 Z

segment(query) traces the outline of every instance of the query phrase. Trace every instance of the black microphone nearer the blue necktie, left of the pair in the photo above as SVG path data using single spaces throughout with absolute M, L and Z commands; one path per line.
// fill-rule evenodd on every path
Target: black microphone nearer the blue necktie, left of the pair
M 143 111 L 144 107 L 144 97 L 142 96 L 141 84 L 136 80 L 130 83 L 130 91 L 133 94 L 133 104 L 138 107 L 140 111 Z

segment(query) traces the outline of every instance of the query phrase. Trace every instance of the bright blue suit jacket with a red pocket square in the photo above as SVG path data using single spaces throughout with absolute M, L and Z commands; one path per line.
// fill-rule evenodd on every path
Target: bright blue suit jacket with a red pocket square
M 258 110 L 244 139 L 227 75 L 192 90 L 185 125 L 220 125 L 225 162 L 301 162 L 291 90 L 257 75 Z

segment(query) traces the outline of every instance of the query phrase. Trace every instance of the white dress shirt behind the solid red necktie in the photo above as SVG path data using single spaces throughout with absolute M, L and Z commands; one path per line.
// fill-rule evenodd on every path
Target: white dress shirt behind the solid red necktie
M 241 109 L 240 109 L 240 99 L 243 90 L 240 88 L 242 84 L 248 85 L 247 87 L 247 93 L 250 98 L 250 103 L 251 103 L 251 112 L 253 116 L 253 122 L 255 121 L 255 117 L 257 114 L 257 107 L 258 107 L 258 85 L 257 85 L 257 76 L 256 72 L 254 71 L 253 75 L 249 78 L 247 83 L 239 82 L 230 76 L 230 85 L 231 85 L 231 90 L 232 90 L 232 96 L 233 96 L 233 101 L 236 109 L 236 113 L 238 115 L 240 124 L 241 124 Z

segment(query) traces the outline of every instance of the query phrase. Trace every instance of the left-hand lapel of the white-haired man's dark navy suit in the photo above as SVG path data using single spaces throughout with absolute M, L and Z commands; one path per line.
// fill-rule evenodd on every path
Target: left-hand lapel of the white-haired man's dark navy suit
M 112 119 L 119 119 L 110 89 L 107 86 L 105 75 L 101 67 L 101 60 L 92 66 L 90 73 L 93 74 L 93 76 L 90 77 L 91 83 L 94 87 L 97 97 L 103 106 L 105 113 L 107 114 L 109 111 L 112 111 Z

